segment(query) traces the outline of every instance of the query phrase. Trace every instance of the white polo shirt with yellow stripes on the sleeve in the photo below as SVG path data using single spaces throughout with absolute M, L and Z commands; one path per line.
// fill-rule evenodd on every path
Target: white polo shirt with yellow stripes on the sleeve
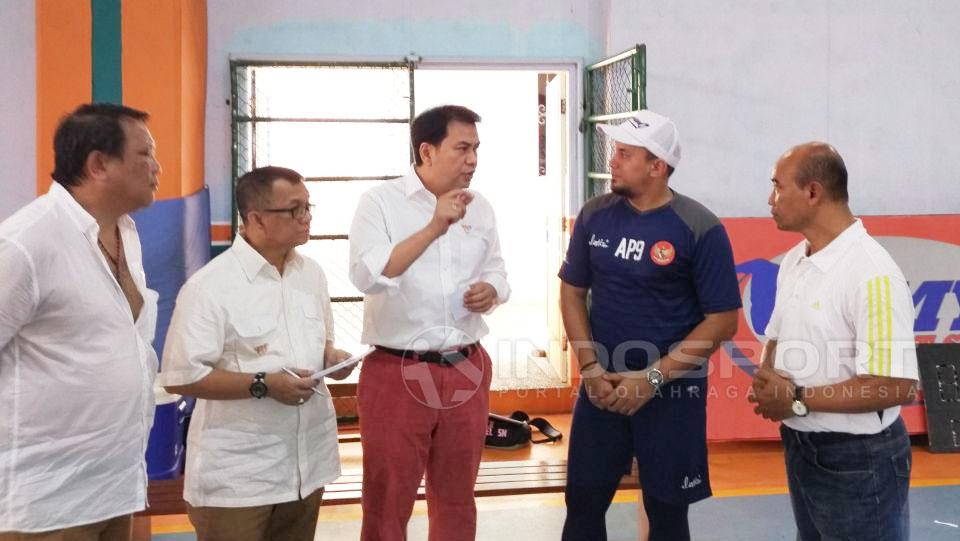
M 807 256 L 792 248 L 780 264 L 777 299 L 767 338 L 777 340 L 774 367 L 804 387 L 832 385 L 860 375 L 917 379 L 913 300 L 900 267 L 855 221 L 827 246 Z M 794 430 L 875 434 L 893 423 L 883 417 L 825 413 L 783 422 Z

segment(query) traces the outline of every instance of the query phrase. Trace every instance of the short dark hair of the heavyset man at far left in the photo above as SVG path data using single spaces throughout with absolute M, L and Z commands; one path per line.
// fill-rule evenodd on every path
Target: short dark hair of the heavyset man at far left
M 127 137 L 121 119 L 139 120 L 150 115 L 115 103 L 85 103 L 60 119 L 53 135 L 53 180 L 63 186 L 76 186 L 83 178 L 83 167 L 91 152 L 123 158 Z

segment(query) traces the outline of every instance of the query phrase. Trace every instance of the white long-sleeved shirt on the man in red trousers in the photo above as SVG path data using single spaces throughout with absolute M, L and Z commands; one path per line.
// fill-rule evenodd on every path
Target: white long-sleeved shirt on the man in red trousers
M 510 287 L 493 207 L 472 193 L 464 218 L 394 278 L 382 274 L 391 252 L 430 222 L 437 198 L 412 168 L 360 198 L 350 228 L 350 281 L 364 293 L 363 343 L 442 350 L 486 336 L 481 314 L 457 319 L 463 293 L 475 282 L 488 282 L 504 303 Z

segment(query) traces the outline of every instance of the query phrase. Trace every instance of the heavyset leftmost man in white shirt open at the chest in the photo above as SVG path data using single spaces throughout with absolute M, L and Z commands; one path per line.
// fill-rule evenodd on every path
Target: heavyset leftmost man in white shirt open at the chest
M 146 503 L 157 293 L 128 213 L 158 186 L 147 118 L 64 117 L 56 182 L 0 224 L 2 541 L 125 541 Z

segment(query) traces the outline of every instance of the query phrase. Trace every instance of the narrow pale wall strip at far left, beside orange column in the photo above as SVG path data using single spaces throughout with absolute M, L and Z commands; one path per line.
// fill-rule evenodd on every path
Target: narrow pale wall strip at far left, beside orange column
M 34 3 L 0 0 L 0 221 L 37 194 Z M 51 142 L 51 144 L 53 144 Z

